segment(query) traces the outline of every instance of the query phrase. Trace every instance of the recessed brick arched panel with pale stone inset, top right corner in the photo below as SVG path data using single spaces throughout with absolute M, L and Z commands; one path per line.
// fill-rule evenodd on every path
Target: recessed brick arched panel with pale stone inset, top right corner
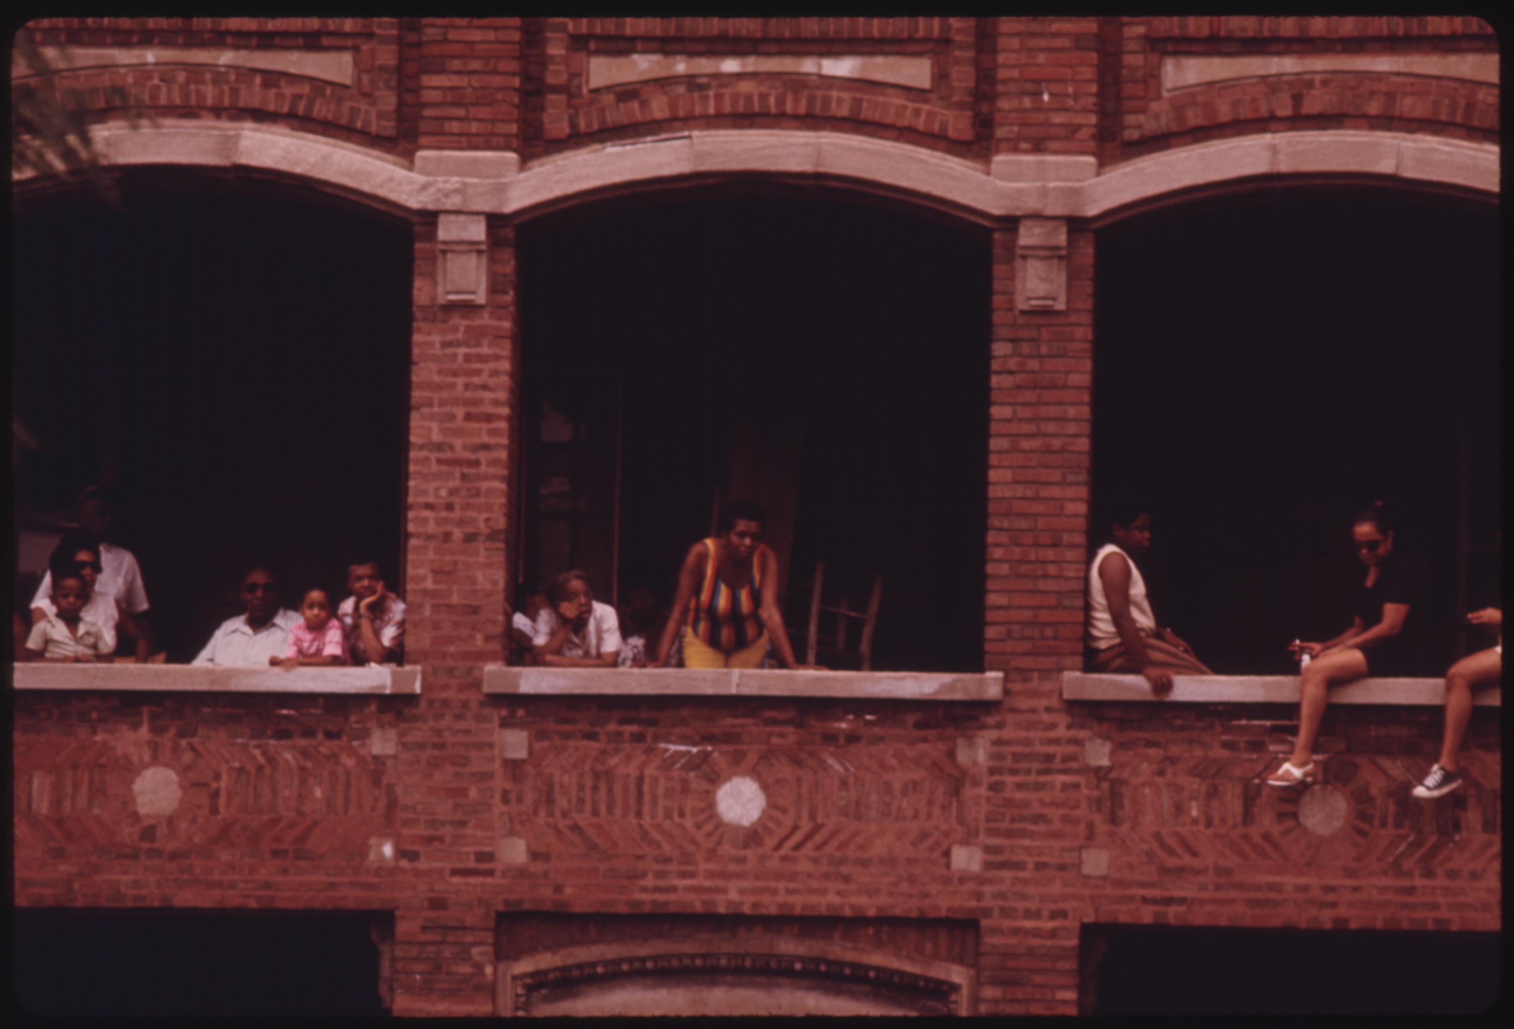
M 1497 142 L 1499 55 L 1479 18 L 1107 20 L 1107 164 L 1257 132 L 1357 129 Z

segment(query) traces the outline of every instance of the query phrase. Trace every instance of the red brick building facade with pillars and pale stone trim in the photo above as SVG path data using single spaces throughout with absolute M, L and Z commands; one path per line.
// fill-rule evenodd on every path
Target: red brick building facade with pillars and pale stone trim
M 849 1011 L 824 997 L 861 976 L 899 1009 L 1072 1014 L 1086 924 L 1500 927 L 1496 711 L 1475 717 L 1470 787 L 1425 805 L 1408 788 L 1435 752 L 1438 700 L 1341 706 L 1320 743 L 1328 783 L 1297 796 L 1260 783 L 1291 705 L 1157 708 L 1064 685 L 1083 667 L 1095 532 L 1101 232 L 1320 185 L 1488 217 L 1485 23 L 29 29 L 53 70 L 18 62 L 14 88 L 79 111 L 111 174 L 260 182 L 412 226 L 403 582 L 421 685 L 215 693 L 133 671 L 120 688 L 20 690 L 20 906 L 392 912 L 386 982 L 406 1015 L 572 1011 L 616 974 L 698 982 L 713 974 L 698 953 L 722 955 L 722 974 L 802 964 L 795 996 L 821 997 L 815 1011 Z M 901 699 L 866 676 L 849 697 L 486 691 L 521 579 L 522 226 L 731 182 L 866 195 L 987 235 L 967 664 L 1002 673 L 1002 696 Z M 79 188 L 14 183 L 18 202 Z M 716 805 L 740 779 L 763 797 L 749 824 Z

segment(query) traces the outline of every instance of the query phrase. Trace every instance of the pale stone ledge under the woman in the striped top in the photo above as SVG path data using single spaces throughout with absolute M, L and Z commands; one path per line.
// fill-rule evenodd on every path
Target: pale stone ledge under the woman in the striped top
M 513 696 L 872 697 L 1001 700 L 1002 671 L 736 671 L 488 665 L 483 691 Z

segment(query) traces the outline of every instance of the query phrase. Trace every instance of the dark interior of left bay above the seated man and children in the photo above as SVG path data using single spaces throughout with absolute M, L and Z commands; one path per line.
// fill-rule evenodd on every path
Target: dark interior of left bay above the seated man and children
M 145 176 L 123 194 L 14 220 L 12 389 L 39 443 L 21 520 L 115 483 L 170 661 L 241 612 L 253 564 L 289 608 L 310 586 L 345 597 L 362 553 L 403 588 L 409 226 L 271 185 Z

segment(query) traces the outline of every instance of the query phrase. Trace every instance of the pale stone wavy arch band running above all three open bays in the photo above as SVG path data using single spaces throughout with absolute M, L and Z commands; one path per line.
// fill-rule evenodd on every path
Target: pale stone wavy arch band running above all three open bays
M 1349 177 L 1482 197 L 1499 192 L 1499 150 L 1491 144 L 1360 130 L 1205 142 L 1139 158 L 1102 174 L 1092 156 L 999 156 L 984 167 L 902 142 L 802 130 L 689 132 L 586 147 L 524 168 L 518 155 L 506 152 L 421 152 L 409 162 L 262 126 L 171 121 L 145 129 L 97 126 L 92 135 L 106 165 L 236 168 L 304 180 L 397 212 L 506 217 L 651 183 L 752 177 L 842 183 L 986 224 L 1016 217 L 1105 220 L 1246 180 Z

